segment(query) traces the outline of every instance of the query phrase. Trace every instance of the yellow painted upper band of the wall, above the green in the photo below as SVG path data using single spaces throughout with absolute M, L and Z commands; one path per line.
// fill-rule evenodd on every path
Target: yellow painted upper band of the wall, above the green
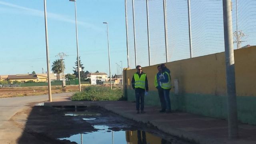
M 237 96 L 256 96 L 256 46 L 234 50 Z M 193 94 L 226 94 L 225 53 L 165 63 L 171 71 L 172 84 L 178 79 L 179 92 Z M 157 65 L 143 67 L 150 90 L 154 88 Z M 128 89 L 136 69 L 127 70 Z M 129 79 L 129 80 L 128 80 Z M 173 89 L 172 89 L 173 91 Z

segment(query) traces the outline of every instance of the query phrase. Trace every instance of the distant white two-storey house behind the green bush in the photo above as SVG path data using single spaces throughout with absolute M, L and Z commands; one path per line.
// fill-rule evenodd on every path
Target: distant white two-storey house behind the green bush
M 100 82 L 108 81 L 108 74 L 104 72 L 90 73 L 90 74 L 87 74 L 86 77 L 91 79 L 92 85 L 96 85 Z

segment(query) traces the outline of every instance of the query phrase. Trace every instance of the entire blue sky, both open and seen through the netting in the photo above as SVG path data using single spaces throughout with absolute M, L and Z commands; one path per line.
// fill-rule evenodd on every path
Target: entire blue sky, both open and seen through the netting
M 46 70 L 44 0 L 0 0 L 0 74 Z M 163 1 L 149 0 L 151 64 L 165 61 Z M 236 0 L 232 0 L 233 32 Z M 134 0 L 137 64 L 148 66 L 146 1 Z M 124 0 L 77 0 L 79 53 L 85 70 L 109 73 L 106 25 L 109 22 L 112 74 L 116 62 L 127 67 Z M 167 0 L 169 61 L 190 58 L 187 0 Z M 64 52 L 66 71 L 76 61 L 74 2 L 47 0 L 50 64 Z M 130 67 L 135 68 L 132 0 L 127 0 Z M 191 0 L 193 57 L 224 52 L 222 0 Z M 256 45 L 256 0 L 238 0 L 238 30 L 242 46 Z M 236 49 L 236 43 L 234 44 Z

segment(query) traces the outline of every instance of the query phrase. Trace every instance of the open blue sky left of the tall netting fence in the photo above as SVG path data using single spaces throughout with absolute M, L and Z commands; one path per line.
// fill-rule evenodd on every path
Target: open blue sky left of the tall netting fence
M 64 52 L 66 71 L 76 62 L 74 2 L 47 0 L 50 64 Z M 127 66 L 123 0 L 77 0 L 81 62 L 89 72 L 109 73 L 106 25 L 109 23 L 112 74 Z M 42 73 L 46 66 L 44 0 L 0 0 L 0 74 Z

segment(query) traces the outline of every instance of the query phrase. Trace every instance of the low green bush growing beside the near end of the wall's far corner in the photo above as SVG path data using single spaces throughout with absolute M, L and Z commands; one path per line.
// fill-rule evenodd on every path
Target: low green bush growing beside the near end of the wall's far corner
M 123 92 L 120 88 L 111 90 L 104 86 L 89 86 L 82 92 L 76 92 L 71 97 L 74 101 L 104 101 L 104 100 L 124 100 Z

